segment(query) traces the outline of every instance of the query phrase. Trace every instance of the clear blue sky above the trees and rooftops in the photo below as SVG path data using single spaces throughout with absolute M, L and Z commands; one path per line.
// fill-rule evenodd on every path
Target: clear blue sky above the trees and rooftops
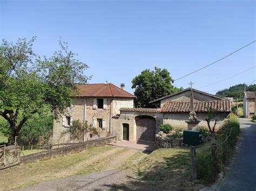
M 35 51 L 51 56 L 58 39 L 87 65 L 89 83 L 125 83 L 154 66 L 177 79 L 255 40 L 255 1 L 5 1 L 0 37 L 37 36 Z M 177 87 L 215 83 L 255 66 L 255 44 L 186 78 Z M 204 88 L 255 80 L 255 68 Z

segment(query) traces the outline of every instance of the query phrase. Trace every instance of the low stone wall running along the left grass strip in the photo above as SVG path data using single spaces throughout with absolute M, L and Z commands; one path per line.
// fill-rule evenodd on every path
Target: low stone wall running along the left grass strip
M 86 141 L 86 142 L 75 143 L 69 146 L 51 149 L 49 151 L 43 151 L 40 153 L 34 153 L 34 154 L 22 156 L 22 162 L 28 163 L 36 160 L 41 160 L 41 159 L 50 159 L 50 158 L 53 158 L 56 156 L 62 156 L 65 154 L 78 153 L 85 149 L 100 147 L 112 142 L 116 142 L 116 140 L 117 140 L 116 136 L 111 136 L 111 137 L 95 139 L 95 140 Z

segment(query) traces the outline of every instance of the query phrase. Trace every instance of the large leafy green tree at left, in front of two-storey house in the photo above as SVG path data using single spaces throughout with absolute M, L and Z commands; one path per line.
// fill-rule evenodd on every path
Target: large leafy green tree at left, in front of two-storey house
M 3 40 L 0 46 L 0 115 L 10 124 L 9 144 L 45 107 L 57 118 L 71 106 L 77 84 L 88 79 L 83 74 L 87 65 L 74 58 L 67 43 L 59 40 L 60 50 L 41 59 L 32 49 L 35 39 L 18 39 L 15 44 Z

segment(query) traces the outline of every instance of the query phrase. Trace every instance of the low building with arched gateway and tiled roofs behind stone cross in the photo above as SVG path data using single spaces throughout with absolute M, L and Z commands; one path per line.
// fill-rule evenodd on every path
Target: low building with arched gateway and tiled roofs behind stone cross
M 231 101 L 195 89 L 192 90 L 195 112 L 197 118 L 201 120 L 199 126 L 207 127 L 205 119 L 210 107 L 217 111 L 216 127 L 222 126 L 231 112 Z M 186 129 L 185 121 L 190 116 L 190 91 L 191 88 L 186 88 L 183 91 L 151 101 L 160 108 L 120 108 L 117 139 L 154 141 L 161 124 L 171 124 L 174 128 Z M 214 121 L 211 122 L 212 126 L 213 124 Z

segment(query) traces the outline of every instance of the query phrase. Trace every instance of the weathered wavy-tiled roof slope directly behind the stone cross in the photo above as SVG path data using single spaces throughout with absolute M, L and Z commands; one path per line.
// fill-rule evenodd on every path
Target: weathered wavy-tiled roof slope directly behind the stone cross
M 231 102 L 229 100 L 214 100 L 194 103 L 195 112 L 207 112 L 208 108 L 213 108 L 218 112 L 231 112 Z M 190 103 L 166 101 L 161 112 L 190 112 Z

